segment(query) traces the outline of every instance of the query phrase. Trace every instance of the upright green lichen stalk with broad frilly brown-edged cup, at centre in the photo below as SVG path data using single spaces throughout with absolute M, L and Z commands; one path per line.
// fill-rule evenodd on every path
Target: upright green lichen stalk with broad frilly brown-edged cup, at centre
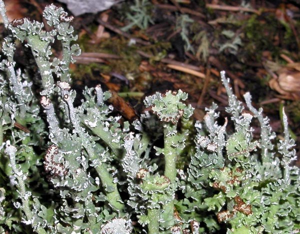
M 184 148 L 184 141 L 187 135 L 187 132 L 183 131 L 179 133 L 177 131 L 177 124 L 181 118 L 185 120 L 189 119 L 193 112 L 191 106 L 186 106 L 181 102 L 181 100 L 186 100 L 186 98 L 186 93 L 179 90 L 178 92 L 168 91 L 165 94 L 156 93 L 145 99 L 146 107 L 151 107 L 151 110 L 163 125 L 164 147 L 155 147 L 155 149 L 156 155 L 160 156 L 162 154 L 164 156 L 164 176 L 170 181 L 173 195 L 176 190 L 176 160 Z M 164 219 L 163 225 L 167 228 L 176 222 L 173 210 L 173 199 L 162 208 L 161 215 Z

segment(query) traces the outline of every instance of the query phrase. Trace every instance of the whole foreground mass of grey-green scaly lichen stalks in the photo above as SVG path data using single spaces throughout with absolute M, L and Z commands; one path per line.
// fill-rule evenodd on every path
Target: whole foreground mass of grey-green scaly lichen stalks
M 74 105 L 68 67 L 80 50 L 71 46 L 71 18 L 46 7 L 52 30 L 45 32 L 26 19 L 9 24 L 2 1 L 0 13 L 8 34 L 0 62 L 0 232 L 299 231 L 299 169 L 285 114 L 278 140 L 250 94 L 247 110 L 232 94 L 224 72 L 231 117 L 219 121 L 212 104 L 192 129 L 183 127 L 193 108 L 180 90 L 146 97 L 133 122 L 112 112 L 110 93 L 99 85 L 85 88 Z M 61 59 L 51 53 L 55 40 Z M 40 80 L 15 70 L 18 41 L 31 49 Z M 187 163 L 178 168 L 182 156 Z

